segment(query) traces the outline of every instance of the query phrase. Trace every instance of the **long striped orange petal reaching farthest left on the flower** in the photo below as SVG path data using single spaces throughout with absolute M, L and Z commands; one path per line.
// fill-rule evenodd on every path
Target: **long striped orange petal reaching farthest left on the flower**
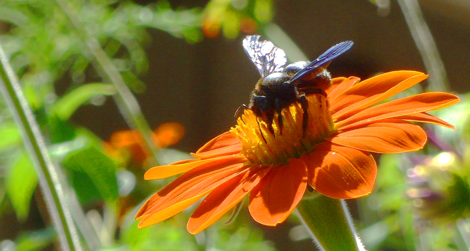
M 136 215 L 137 219 L 143 219 L 139 226 L 155 224 L 184 210 L 185 207 L 179 205 L 188 207 L 191 205 L 188 202 L 197 201 L 196 198 L 201 198 L 225 181 L 247 171 L 250 166 L 244 165 L 245 161 L 226 157 L 223 161 L 207 162 L 179 176 L 144 203 Z

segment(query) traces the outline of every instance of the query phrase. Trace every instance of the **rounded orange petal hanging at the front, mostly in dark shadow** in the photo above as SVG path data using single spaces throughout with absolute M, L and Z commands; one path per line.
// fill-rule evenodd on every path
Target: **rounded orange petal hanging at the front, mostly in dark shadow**
M 266 226 L 282 223 L 294 211 L 307 188 L 307 167 L 300 159 L 274 166 L 251 191 L 250 214 Z

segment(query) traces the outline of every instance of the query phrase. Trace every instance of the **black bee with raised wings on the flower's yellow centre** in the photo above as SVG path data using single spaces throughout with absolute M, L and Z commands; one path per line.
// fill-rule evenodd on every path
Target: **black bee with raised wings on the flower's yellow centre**
M 260 37 L 251 35 L 243 39 L 243 48 L 258 68 L 261 78 L 251 92 L 249 105 L 241 105 L 235 117 L 242 108 L 252 110 L 257 117 L 267 122 L 269 131 L 274 135 L 273 119 L 277 113 L 282 134 L 281 110 L 299 102 L 304 111 L 302 126 L 305 137 L 309 119 L 306 95 L 316 93 L 326 96 L 325 90 L 331 85 L 331 76 L 326 67 L 332 59 L 351 48 L 353 42 L 340 42 L 312 62 L 300 61 L 283 67 L 287 62 L 286 53 L 270 41 L 260 41 Z

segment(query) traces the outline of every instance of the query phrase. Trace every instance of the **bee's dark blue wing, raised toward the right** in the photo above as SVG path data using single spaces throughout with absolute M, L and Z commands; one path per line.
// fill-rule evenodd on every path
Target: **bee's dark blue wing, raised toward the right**
M 316 68 L 320 67 L 321 65 L 333 60 L 337 56 L 343 54 L 348 49 L 352 47 L 354 42 L 352 41 L 343 41 L 340 42 L 331 48 L 327 49 L 323 54 L 319 55 L 315 60 L 312 61 L 307 67 L 297 72 L 294 77 L 292 77 L 291 82 L 294 82 L 303 76 L 307 75 L 308 73 L 312 72 Z

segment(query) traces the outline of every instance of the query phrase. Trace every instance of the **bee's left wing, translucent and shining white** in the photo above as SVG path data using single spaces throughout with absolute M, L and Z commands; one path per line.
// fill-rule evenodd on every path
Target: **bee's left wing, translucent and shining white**
M 270 41 L 260 41 L 260 37 L 260 35 L 252 35 L 243 39 L 246 54 L 255 64 L 261 77 L 282 71 L 287 62 L 286 53 Z

